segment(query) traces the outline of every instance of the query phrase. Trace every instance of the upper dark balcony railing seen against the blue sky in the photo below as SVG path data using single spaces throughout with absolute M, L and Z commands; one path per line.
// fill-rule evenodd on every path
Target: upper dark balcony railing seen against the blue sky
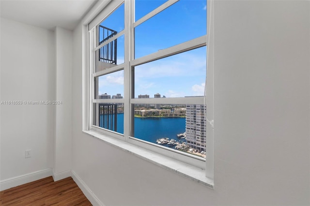
M 117 34 L 117 31 L 99 25 L 99 45 Z M 99 61 L 116 64 L 117 39 L 99 49 Z

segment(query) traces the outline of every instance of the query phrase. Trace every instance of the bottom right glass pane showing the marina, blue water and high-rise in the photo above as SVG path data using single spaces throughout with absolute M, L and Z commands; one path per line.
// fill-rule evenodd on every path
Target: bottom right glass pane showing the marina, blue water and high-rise
M 135 104 L 133 136 L 180 151 L 205 157 L 205 106 L 200 104 Z

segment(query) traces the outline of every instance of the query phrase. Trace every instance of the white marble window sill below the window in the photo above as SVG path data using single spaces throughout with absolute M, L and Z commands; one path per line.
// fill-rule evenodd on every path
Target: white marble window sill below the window
M 195 182 L 198 182 L 206 187 L 213 189 L 214 186 L 213 180 L 208 177 L 205 177 L 205 170 L 202 170 L 201 168 L 189 165 L 181 161 L 174 160 L 172 158 L 132 145 L 122 140 L 112 138 L 107 134 L 103 134 L 93 130 L 83 132 L 93 136 L 94 138 L 100 139 L 108 143 L 109 145 L 118 147 L 123 151 L 126 151 L 130 154 L 140 157 L 143 160 L 152 162 L 180 176 L 189 178 Z

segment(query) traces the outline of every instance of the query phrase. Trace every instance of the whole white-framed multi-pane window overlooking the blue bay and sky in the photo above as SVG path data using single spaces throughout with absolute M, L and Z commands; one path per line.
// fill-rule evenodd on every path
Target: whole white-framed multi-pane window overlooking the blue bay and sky
M 110 4 L 89 30 L 90 128 L 205 168 L 206 0 Z

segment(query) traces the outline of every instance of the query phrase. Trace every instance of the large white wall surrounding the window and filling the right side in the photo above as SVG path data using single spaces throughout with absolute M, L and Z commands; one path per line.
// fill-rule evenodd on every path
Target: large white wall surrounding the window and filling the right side
M 309 2 L 215 2 L 215 189 L 81 132 L 74 31 L 72 169 L 105 205 L 309 205 Z

